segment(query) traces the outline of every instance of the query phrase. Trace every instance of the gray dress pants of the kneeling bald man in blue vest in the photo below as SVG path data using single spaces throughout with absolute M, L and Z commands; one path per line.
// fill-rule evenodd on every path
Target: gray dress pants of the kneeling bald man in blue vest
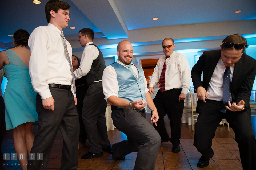
M 112 158 L 138 152 L 134 169 L 155 169 L 161 137 L 146 119 L 145 110 L 123 107 L 112 111 L 115 127 L 127 135 L 127 140 L 112 145 Z

